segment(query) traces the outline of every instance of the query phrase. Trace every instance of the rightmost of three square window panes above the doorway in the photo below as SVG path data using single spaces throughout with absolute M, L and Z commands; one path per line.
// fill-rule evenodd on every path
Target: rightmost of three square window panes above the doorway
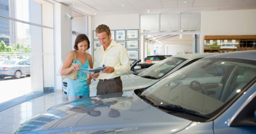
M 181 13 L 181 30 L 183 32 L 200 32 L 200 13 Z

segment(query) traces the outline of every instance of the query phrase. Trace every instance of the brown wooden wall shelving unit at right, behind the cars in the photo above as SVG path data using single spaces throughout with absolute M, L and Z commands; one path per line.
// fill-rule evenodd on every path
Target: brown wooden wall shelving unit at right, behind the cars
M 205 35 L 204 53 L 256 50 L 256 35 Z

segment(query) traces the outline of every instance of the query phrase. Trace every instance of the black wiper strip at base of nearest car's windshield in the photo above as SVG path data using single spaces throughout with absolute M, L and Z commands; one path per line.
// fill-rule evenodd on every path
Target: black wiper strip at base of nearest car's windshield
M 208 116 L 206 116 L 202 113 L 199 113 L 199 112 L 197 112 L 195 110 L 191 110 L 191 109 L 185 109 L 185 108 L 183 108 L 181 106 L 178 106 L 178 105 L 168 104 L 168 105 L 153 105 L 153 106 L 159 107 L 160 109 L 165 109 L 165 110 L 168 110 L 168 111 L 172 111 L 172 112 L 186 113 L 186 114 L 190 114 L 190 115 L 193 115 L 193 116 L 199 116 L 199 117 L 202 117 L 202 118 L 209 119 Z

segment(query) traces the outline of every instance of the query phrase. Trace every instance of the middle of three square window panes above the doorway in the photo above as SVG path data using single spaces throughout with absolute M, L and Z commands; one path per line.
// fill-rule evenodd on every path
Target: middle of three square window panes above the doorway
M 160 32 L 179 32 L 179 14 L 160 14 Z

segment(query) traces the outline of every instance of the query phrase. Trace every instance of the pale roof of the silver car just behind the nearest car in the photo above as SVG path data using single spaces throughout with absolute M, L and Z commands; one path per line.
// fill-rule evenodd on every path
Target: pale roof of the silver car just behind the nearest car
M 179 57 L 179 58 L 184 58 L 184 59 L 193 59 L 193 58 L 197 58 L 197 57 L 205 57 L 205 56 L 212 56 L 212 55 L 216 55 L 217 53 L 186 53 L 186 54 L 178 54 L 178 55 L 174 55 L 171 57 Z M 171 58 L 168 57 L 168 58 Z

